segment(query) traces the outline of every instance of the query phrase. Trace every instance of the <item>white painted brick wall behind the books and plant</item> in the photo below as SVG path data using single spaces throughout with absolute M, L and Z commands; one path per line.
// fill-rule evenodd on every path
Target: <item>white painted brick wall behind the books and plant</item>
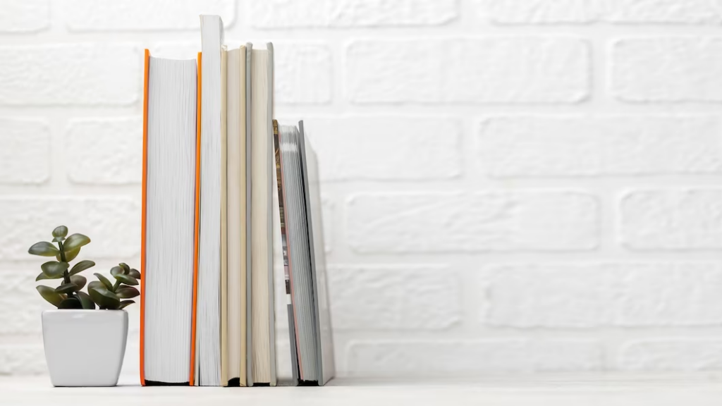
M 316 144 L 339 375 L 722 370 L 718 1 L 6 0 L 0 373 L 45 371 L 30 244 L 139 264 L 142 49 L 199 12 Z

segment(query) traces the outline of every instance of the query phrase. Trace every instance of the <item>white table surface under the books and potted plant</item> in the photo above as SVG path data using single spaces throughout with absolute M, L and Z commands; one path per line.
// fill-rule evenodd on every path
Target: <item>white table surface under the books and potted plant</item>
M 336 379 L 324 387 L 276 388 L 142 387 L 123 379 L 113 388 L 53 388 L 46 376 L 5 376 L 0 405 L 720 406 L 722 374 Z

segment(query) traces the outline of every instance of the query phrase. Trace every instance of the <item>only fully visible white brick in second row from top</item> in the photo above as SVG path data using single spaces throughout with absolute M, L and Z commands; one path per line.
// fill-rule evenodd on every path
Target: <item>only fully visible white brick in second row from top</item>
M 588 46 L 570 38 L 360 40 L 346 59 L 354 103 L 576 103 L 590 90 Z

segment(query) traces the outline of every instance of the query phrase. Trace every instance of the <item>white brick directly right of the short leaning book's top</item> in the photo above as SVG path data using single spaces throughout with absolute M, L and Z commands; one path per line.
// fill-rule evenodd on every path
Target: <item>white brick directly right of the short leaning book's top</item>
M 461 129 L 448 118 L 309 118 L 304 125 L 313 129 L 309 137 L 323 162 L 324 181 L 425 181 L 461 175 Z

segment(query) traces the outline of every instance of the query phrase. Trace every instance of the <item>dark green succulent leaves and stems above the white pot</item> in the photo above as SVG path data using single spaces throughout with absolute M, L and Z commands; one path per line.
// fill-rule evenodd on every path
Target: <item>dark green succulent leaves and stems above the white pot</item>
M 118 264 L 118 267 L 110 269 L 110 275 L 116 279 L 110 283 L 108 278 L 96 273 L 98 280 L 87 285 L 88 293 L 82 292 L 87 280 L 82 275 L 77 275 L 85 269 L 95 266 L 95 262 L 87 259 L 77 262 L 70 267 L 70 262 L 75 259 L 82 246 L 90 243 L 90 238 L 82 234 L 68 235 L 68 228 L 64 225 L 53 230 L 53 243 L 40 241 L 32 244 L 27 250 L 29 254 L 38 256 L 55 256 L 56 261 L 48 261 L 40 266 L 43 272 L 35 278 L 38 280 L 62 279 L 57 288 L 39 285 L 36 287 L 43 298 L 57 308 L 84 308 L 94 309 L 95 304 L 101 309 L 121 309 L 135 303 L 134 301 L 121 301 L 121 299 L 134 298 L 140 293 L 132 285 L 138 285 L 140 272 L 131 269 L 126 264 Z

